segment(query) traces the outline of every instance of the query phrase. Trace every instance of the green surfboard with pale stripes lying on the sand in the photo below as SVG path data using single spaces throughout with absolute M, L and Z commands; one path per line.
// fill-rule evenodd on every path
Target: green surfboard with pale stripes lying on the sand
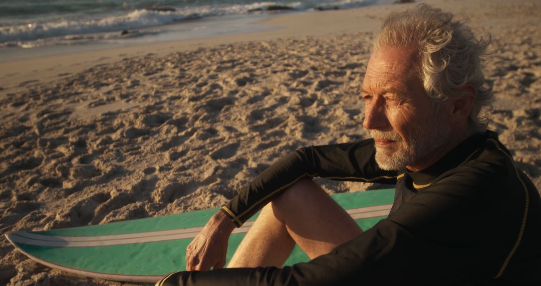
M 387 217 L 394 189 L 333 194 L 363 230 Z M 170 214 L 102 225 L 45 231 L 14 231 L 8 240 L 35 261 L 81 276 L 126 282 L 158 281 L 185 270 L 186 246 L 218 209 Z M 230 239 L 227 261 L 233 256 L 257 214 Z M 309 261 L 295 246 L 284 265 Z

